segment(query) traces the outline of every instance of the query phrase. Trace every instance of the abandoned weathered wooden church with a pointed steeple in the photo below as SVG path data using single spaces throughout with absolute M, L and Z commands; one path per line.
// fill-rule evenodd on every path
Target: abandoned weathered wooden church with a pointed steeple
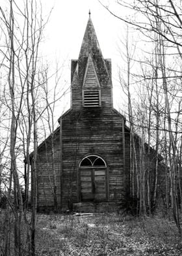
M 110 207 L 130 187 L 130 131 L 113 108 L 111 61 L 101 53 L 91 18 L 71 82 L 71 108 L 59 118 L 54 152 L 51 136 L 38 147 L 38 209 L 53 208 L 55 197 L 60 210 Z

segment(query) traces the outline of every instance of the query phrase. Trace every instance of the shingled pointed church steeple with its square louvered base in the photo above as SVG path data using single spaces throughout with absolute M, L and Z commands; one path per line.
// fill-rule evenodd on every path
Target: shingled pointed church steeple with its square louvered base
M 112 106 L 111 89 L 111 62 L 103 58 L 89 11 L 79 59 L 72 60 L 72 107 Z

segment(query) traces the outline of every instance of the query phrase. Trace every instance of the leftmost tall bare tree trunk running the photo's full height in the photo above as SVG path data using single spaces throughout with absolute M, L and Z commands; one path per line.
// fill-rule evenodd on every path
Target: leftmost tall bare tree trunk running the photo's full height
M 9 20 L 7 22 L 6 29 L 9 32 L 10 36 L 10 65 L 8 71 L 8 86 L 10 91 L 10 99 L 11 99 L 11 126 L 10 126 L 10 191 L 9 191 L 9 200 L 11 193 L 11 184 L 13 179 L 14 182 L 14 255 L 21 255 L 21 216 L 23 212 L 23 203 L 21 197 L 21 189 L 19 185 L 18 178 L 18 170 L 16 166 L 16 136 L 17 136 L 17 125 L 19 113 L 21 112 L 21 103 L 22 103 L 22 95 L 19 101 L 19 109 L 16 116 L 16 103 L 15 103 L 15 50 L 14 50 L 14 11 L 12 8 L 13 1 L 10 0 L 10 15 Z M 1 14 L 3 14 L 3 18 L 5 18 L 3 10 L 1 9 Z M 6 18 L 5 18 L 6 19 Z M 9 201 L 10 202 L 10 201 Z M 7 212 L 7 223 L 9 222 L 9 211 Z M 5 251 L 8 253 L 9 251 L 9 227 L 6 238 L 6 246 Z M 8 255 L 8 254 L 7 254 Z

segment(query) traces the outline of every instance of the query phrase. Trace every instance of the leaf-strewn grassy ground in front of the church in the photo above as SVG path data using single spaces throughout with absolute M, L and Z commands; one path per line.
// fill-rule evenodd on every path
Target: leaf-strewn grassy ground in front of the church
M 38 214 L 39 256 L 181 255 L 173 221 L 118 214 Z

